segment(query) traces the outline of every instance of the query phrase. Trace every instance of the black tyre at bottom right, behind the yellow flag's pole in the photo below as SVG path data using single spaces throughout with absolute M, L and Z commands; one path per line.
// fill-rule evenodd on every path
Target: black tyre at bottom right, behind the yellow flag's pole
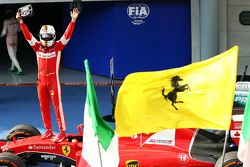
M 222 156 L 216 161 L 214 167 L 221 167 Z M 242 167 L 243 163 L 237 157 L 237 151 L 227 152 L 222 167 Z

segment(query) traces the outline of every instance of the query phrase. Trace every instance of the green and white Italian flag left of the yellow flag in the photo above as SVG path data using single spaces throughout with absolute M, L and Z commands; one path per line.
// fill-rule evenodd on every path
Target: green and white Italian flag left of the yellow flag
M 88 61 L 84 61 L 87 96 L 84 111 L 82 159 L 92 167 L 117 167 L 119 164 L 118 137 L 112 127 L 99 113 L 95 88 L 91 79 Z M 80 161 L 78 167 L 85 166 Z

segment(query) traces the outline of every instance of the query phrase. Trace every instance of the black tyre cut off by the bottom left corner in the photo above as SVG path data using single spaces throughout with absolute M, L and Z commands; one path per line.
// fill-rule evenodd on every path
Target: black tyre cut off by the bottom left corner
M 26 167 L 24 160 L 10 152 L 0 153 L 0 166 L 3 167 Z

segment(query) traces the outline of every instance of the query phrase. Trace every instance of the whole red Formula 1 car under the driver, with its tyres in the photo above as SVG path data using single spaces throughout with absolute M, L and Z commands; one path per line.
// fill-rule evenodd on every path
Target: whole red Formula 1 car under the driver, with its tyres
M 26 167 L 39 162 L 77 166 L 84 147 L 81 127 L 79 134 L 68 134 L 67 140 L 55 144 L 49 139 L 41 140 L 40 132 L 33 126 L 17 125 L 10 130 L 6 140 L 0 141 L 0 166 Z M 235 141 L 230 137 L 227 142 L 224 167 L 242 165 L 237 159 Z M 221 166 L 223 144 L 223 131 L 195 129 L 165 130 L 120 138 L 119 166 L 217 167 Z

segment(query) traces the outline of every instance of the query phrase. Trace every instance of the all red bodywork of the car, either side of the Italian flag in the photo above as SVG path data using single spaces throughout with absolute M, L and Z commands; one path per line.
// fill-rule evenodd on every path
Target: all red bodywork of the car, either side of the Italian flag
M 120 167 L 213 167 L 214 163 L 201 162 L 189 156 L 189 145 L 193 136 L 193 129 L 176 130 L 175 146 L 144 144 L 150 135 L 119 138 Z M 22 156 L 25 153 L 41 153 L 43 159 L 51 159 L 53 154 L 75 161 L 81 158 L 82 142 L 72 140 L 74 135 L 68 135 L 71 141 L 55 144 L 50 139 L 41 140 L 40 136 L 29 137 L 13 142 L 0 142 L 3 152 L 11 151 Z M 76 136 L 76 135 L 75 135 Z M 78 136 L 79 137 L 79 136 Z M 66 151 L 65 151 L 66 150 Z M 201 150 L 202 151 L 202 150 Z M 1 151 L 0 151 L 1 152 Z M 91 154 L 91 153 L 90 153 Z

